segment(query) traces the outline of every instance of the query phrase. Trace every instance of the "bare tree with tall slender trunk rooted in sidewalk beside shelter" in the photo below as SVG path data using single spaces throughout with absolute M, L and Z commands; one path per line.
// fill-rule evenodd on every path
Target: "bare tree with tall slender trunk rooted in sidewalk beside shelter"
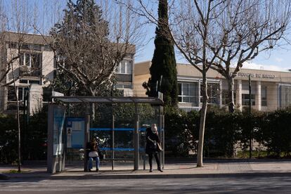
M 214 39 L 216 18 L 226 9 L 225 0 L 218 1 L 172 1 L 169 3 L 169 27 L 167 35 L 179 49 L 186 60 L 202 74 L 202 108 L 200 112 L 200 129 L 198 143 L 197 166 L 202 167 L 202 153 L 205 133 L 205 117 L 207 112 L 207 71 L 216 62 L 217 54 L 223 47 L 219 41 Z M 150 6 L 139 0 L 141 5 L 134 8 L 136 13 L 145 16 L 151 22 L 157 23 L 155 14 Z M 209 44 L 216 47 L 212 52 Z

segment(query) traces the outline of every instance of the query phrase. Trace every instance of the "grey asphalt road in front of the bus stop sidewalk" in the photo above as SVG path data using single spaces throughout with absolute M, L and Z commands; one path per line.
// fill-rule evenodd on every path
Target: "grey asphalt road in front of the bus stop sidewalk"
M 291 193 L 291 177 L 10 180 L 0 193 Z

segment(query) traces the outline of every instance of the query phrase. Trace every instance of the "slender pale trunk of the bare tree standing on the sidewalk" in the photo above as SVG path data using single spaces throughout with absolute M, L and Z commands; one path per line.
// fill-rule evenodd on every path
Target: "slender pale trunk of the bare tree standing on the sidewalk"
M 198 142 L 198 155 L 197 155 L 197 167 L 203 167 L 203 143 L 205 132 L 205 118 L 207 112 L 207 79 L 206 72 L 202 72 L 202 108 L 200 113 L 200 127 L 199 127 L 199 142 Z

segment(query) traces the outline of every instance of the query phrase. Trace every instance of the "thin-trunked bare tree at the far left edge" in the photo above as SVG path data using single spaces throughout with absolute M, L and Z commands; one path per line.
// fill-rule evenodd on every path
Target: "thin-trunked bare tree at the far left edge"
M 16 117 L 18 121 L 18 172 L 20 172 L 20 101 L 15 82 L 20 79 L 20 72 L 25 70 L 25 68 L 20 67 L 22 56 L 21 50 L 25 45 L 25 34 L 30 32 L 30 29 L 32 29 L 31 27 L 34 25 L 34 22 L 36 22 L 35 17 L 37 13 L 35 11 L 37 10 L 34 8 L 34 14 L 31 14 L 27 0 L 12 1 L 8 6 L 5 6 L 4 1 L 0 1 L 0 3 L 0 49 L 1 53 L 6 56 L 1 60 L 0 86 L 1 91 L 5 91 L 4 88 L 8 88 L 8 86 L 13 86 L 16 98 Z M 30 41 L 32 41 L 32 39 L 34 39 L 33 34 L 30 36 Z M 31 48 L 31 50 L 33 50 L 33 48 Z

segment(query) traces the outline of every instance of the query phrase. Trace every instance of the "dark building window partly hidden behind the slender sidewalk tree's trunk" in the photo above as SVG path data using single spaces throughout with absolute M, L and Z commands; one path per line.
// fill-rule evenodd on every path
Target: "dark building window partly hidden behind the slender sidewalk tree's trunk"
M 200 101 L 203 100 L 202 84 L 200 85 Z M 219 104 L 220 87 L 219 83 L 207 83 L 207 95 L 209 104 Z

